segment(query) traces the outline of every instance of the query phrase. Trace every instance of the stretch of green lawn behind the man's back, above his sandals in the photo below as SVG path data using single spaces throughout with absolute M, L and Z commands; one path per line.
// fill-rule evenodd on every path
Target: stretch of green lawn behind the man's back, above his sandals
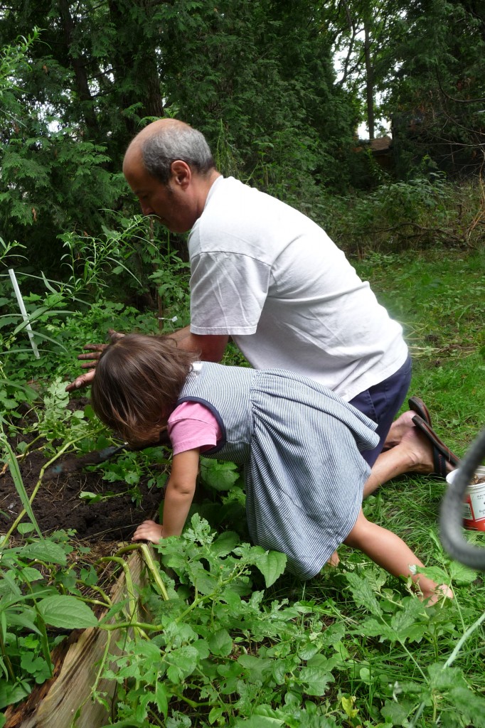
M 413 356 L 411 392 L 461 456 L 485 425 L 485 259 L 462 250 L 371 256 L 358 266 L 403 325 Z

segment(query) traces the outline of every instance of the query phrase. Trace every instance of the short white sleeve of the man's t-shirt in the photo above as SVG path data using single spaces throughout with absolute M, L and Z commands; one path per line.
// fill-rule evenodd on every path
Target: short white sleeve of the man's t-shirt
M 268 295 L 270 266 L 251 256 L 216 251 L 194 256 L 191 268 L 192 333 L 255 333 Z

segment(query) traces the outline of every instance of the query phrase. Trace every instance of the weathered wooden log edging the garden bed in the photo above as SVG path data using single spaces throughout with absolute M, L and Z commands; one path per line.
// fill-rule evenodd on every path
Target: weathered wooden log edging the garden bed
M 138 551 L 127 559 L 127 566 L 134 587 L 146 584 L 146 569 Z M 110 596 L 113 604 L 127 598 L 124 572 L 117 579 Z M 104 614 L 106 611 L 100 619 Z M 116 642 L 120 636 L 119 630 L 111 633 L 110 654 L 119 654 Z M 100 728 L 105 725 L 109 713 L 101 703 L 91 700 L 90 695 L 107 641 L 108 633 L 103 629 L 73 630 L 52 652 L 52 678 L 34 687 L 23 703 L 7 708 L 4 728 Z M 105 692 L 106 700 L 111 703 L 116 684 L 101 679 L 97 690 Z M 79 716 L 74 722 L 78 711 Z

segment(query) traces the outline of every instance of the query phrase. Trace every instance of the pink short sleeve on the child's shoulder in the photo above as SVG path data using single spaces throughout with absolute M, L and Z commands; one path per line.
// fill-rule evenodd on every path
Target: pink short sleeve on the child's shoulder
M 174 455 L 194 448 L 200 448 L 201 452 L 210 450 L 222 436 L 216 417 L 198 402 L 178 405 L 170 415 L 167 427 Z

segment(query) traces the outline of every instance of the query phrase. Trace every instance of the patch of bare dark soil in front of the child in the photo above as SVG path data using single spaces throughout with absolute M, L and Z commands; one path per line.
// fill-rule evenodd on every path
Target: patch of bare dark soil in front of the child
M 15 441 L 11 444 L 15 451 Z M 33 451 L 19 459 L 20 473 L 29 496 L 45 462 L 42 451 Z M 130 494 L 125 493 L 127 487 L 123 482 L 109 483 L 103 480 L 100 466 L 58 475 L 42 482 L 33 499 L 33 515 L 44 535 L 58 529 L 75 529 L 79 539 L 129 541 L 138 523 L 157 515 L 162 491 L 156 487 L 148 488 L 146 482 L 141 480 L 138 488 L 142 501 L 138 506 Z M 110 491 L 119 495 L 98 502 L 87 502 L 79 498 L 81 491 L 95 494 Z M 22 510 L 8 467 L 0 467 L 0 531 L 7 531 Z M 23 522 L 28 522 L 26 515 Z

